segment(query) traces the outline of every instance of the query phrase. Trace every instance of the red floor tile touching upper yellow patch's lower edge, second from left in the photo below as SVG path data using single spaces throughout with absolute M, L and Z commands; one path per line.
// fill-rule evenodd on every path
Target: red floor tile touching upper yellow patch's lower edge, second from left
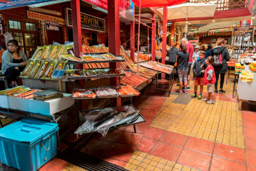
M 166 131 L 163 137 L 159 141 L 183 147 L 187 139 L 188 139 L 188 136 L 186 135 Z

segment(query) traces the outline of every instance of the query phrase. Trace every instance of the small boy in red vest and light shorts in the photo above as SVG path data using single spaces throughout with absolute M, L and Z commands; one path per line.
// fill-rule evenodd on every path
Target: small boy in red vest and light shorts
M 214 74 L 214 68 L 212 66 L 212 63 L 214 62 L 213 56 L 208 56 L 205 63 L 208 65 L 205 71 L 201 71 L 204 73 L 204 85 L 207 85 L 207 91 L 208 91 L 208 97 L 204 99 L 204 101 L 207 101 L 208 104 L 215 104 L 214 100 L 214 93 L 213 92 L 213 85 L 216 81 L 216 77 Z

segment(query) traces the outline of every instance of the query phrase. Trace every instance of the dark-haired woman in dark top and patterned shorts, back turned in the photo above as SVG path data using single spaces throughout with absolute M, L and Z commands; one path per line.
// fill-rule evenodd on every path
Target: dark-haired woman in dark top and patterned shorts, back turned
M 187 94 L 187 75 L 188 75 L 188 61 L 189 61 L 189 54 L 187 52 L 187 46 L 184 44 L 180 45 L 180 52 L 177 55 L 177 68 L 178 68 L 178 75 L 179 75 L 179 86 L 180 89 L 177 90 L 177 93 L 182 94 L 182 84 L 184 82 L 184 93 Z

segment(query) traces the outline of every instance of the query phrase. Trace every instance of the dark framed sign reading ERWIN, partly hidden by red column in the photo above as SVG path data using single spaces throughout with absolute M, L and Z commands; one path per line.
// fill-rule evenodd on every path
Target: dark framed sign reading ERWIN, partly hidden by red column
M 105 33 L 105 19 L 94 17 L 80 12 L 81 28 Z M 70 8 L 65 8 L 66 26 L 72 27 L 72 13 Z

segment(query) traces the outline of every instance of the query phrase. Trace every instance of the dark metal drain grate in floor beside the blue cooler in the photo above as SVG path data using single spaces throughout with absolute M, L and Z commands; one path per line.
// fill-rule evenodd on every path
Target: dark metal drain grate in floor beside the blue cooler
M 128 171 L 115 164 L 73 150 L 65 150 L 57 157 L 88 171 Z

